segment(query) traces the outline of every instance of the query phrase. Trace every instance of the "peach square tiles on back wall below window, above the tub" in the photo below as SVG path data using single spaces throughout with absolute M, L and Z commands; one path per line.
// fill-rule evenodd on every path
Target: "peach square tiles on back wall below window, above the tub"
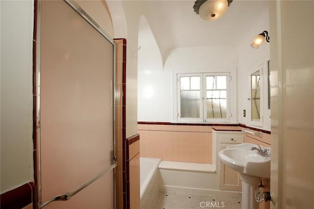
M 141 157 L 211 164 L 211 127 L 138 124 Z

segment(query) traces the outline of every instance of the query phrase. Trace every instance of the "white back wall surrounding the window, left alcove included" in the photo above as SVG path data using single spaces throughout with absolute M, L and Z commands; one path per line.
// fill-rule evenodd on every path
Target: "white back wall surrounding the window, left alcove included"
M 145 41 L 141 40 L 145 37 Z M 148 38 L 151 37 L 151 38 Z M 232 46 L 197 46 L 174 49 L 162 69 L 153 35 L 139 36 L 147 47 L 139 51 L 138 120 L 176 121 L 176 74 L 193 72 L 231 72 L 232 122 L 236 122 L 237 54 Z M 141 46 L 142 47 L 142 46 Z

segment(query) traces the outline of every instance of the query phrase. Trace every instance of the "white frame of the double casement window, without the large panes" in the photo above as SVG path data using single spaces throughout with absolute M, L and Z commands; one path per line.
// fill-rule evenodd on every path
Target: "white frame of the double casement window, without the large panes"
M 227 118 L 206 118 L 206 76 L 227 76 Z M 200 117 L 181 117 L 181 79 L 180 77 L 200 76 Z M 230 72 L 211 72 L 211 73 L 177 73 L 177 121 L 178 122 L 230 122 L 231 121 L 231 76 Z

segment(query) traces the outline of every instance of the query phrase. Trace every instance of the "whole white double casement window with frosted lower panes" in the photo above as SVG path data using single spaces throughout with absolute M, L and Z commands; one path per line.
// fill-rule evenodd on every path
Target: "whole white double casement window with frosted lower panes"
M 177 74 L 178 121 L 230 121 L 230 73 Z

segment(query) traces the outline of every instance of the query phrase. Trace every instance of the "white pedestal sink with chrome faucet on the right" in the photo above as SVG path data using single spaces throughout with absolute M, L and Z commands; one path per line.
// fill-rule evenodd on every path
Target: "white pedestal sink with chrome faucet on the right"
M 242 143 L 228 146 L 221 150 L 218 155 L 222 163 L 236 170 L 242 180 L 242 209 L 259 209 L 255 200 L 255 190 L 263 178 L 270 177 L 270 147 L 266 149 L 266 156 L 258 153 L 258 150 L 251 150 L 252 147 L 259 148 L 252 143 Z

